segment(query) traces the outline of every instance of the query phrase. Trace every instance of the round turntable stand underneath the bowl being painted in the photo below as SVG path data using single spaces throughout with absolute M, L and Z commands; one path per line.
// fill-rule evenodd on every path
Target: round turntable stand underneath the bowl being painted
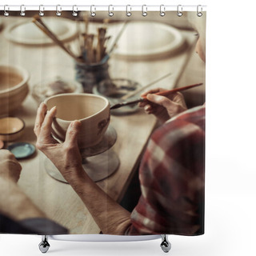
M 113 126 L 109 126 L 101 142 L 95 146 L 80 150 L 83 169 L 94 182 L 102 181 L 118 170 L 118 154 L 110 149 L 114 146 L 116 140 L 117 133 Z M 45 168 L 52 178 L 59 182 L 67 183 L 66 179 L 62 177 L 62 174 L 48 158 L 45 160 Z

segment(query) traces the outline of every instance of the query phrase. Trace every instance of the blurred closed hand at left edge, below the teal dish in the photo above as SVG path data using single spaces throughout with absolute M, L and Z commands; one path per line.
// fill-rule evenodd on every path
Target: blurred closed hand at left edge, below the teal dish
M 22 166 L 9 150 L 0 150 L 0 178 L 18 182 Z

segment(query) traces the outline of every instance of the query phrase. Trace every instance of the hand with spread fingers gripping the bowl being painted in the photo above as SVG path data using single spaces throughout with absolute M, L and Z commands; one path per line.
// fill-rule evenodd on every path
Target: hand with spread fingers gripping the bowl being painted
M 51 136 L 51 124 L 56 112 L 56 107 L 47 111 L 44 103 L 39 106 L 34 124 L 34 134 L 37 136 L 36 146 L 54 163 L 66 181 L 72 182 L 78 178 L 82 170 L 82 158 L 77 142 L 81 123 L 71 122 L 66 131 L 65 142 L 58 143 Z

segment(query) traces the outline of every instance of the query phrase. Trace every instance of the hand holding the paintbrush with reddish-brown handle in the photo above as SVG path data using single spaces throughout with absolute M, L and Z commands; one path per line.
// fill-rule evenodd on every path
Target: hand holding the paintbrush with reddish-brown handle
M 187 109 L 183 95 L 179 92 L 168 96 L 155 95 L 164 90 L 166 89 L 157 88 L 147 91 L 141 95 L 146 96 L 147 101 L 138 104 L 144 107 L 146 114 L 154 114 L 161 122 L 166 122 Z

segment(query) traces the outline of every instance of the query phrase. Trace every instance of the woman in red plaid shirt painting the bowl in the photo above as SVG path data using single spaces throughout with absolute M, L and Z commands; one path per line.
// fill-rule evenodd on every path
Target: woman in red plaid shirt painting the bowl
M 205 20 L 196 50 L 205 61 Z M 86 174 L 78 150 L 81 123 L 71 122 L 66 140 L 51 137 L 56 108 L 41 104 L 34 126 L 37 147 L 82 199 L 103 234 L 203 234 L 205 106 L 186 110 L 182 94 L 169 98 L 147 92 L 141 103 L 163 125 L 154 131 L 139 170 L 142 196 L 130 214 Z

